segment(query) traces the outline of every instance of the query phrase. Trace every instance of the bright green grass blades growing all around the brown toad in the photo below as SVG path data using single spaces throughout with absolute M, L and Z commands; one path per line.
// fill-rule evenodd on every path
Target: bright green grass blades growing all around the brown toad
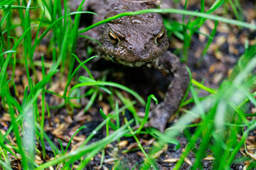
M 188 103 L 195 103 L 195 107 L 191 111 L 186 111 L 186 114 L 171 128 L 167 129 L 164 134 L 153 128 L 142 130 L 149 114 L 151 98 L 156 101 L 154 96 L 149 96 L 149 102 L 146 103 L 136 92 L 127 89 L 125 86 L 113 82 L 96 81 L 87 67 L 85 67 L 87 62 L 93 60 L 94 57 L 90 57 L 85 62 L 78 61 L 80 64 L 75 66 L 75 60 L 78 60 L 78 57 L 73 55 L 75 53 L 78 33 L 85 32 L 102 23 L 125 15 L 138 15 L 151 12 L 179 13 L 198 17 L 195 20 L 191 18 L 188 23 L 182 23 L 180 27 L 181 33 L 177 33 L 181 35 L 181 38 L 185 42 L 183 60 L 187 60 L 188 48 L 190 47 L 193 33 L 198 32 L 198 28 L 203 25 L 206 19 L 214 20 L 215 29 L 208 35 L 210 38 L 205 50 L 203 50 L 203 55 L 205 55 L 220 22 L 256 30 L 256 26 L 242 22 L 240 18 L 242 9 L 238 8 L 237 10 L 233 8 L 234 4 L 232 1 L 226 3 L 230 3 L 238 20 L 213 16 L 211 13 L 220 8 L 223 3 L 224 1 L 215 1 L 210 7 L 210 10 L 206 12 L 203 10 L 204 1 L 201 1 L 200 12 L 177 9 L 146 9 L 143 11 L 122 13 L 78 31 L 81 13 L 95 15 L 95 13 L 89 11 L 82 11 L 82 4 L 77 12 L 70 13 L 68 1 L 65 0 L 1 1 L 0 111 L 8 113 L 11 118 L 11 124 L 8 130 L 0 132 L 1 167 L 3 169 L 11 169 L 11 155 L 16 160 L 21 161 L 23 169 L 46 169 L 50 166 L 63 166 L 63 169 L 70 169 L 77 160 L 80 160 L 78 169 L 84 169 L 95 154 L 100 151 L 105 152 L 104 149 L 107 144 L 119 140 L 120 137 L 134 137 L 146 157 L 146 162 L 144 162 L 141 169 L 149 169 L 149 167 L 158 169 L 155 164 L 154 154 L 161 150 L 166 142 L 179 147 L 177 140 L 175 140 L 176 135 L 181 130 L 186 131 L 188 134 L 188 128 L 191 126 L 191 123 L 195 118 L 199 117 L 201 118 L 201 123 L 195 125 L 198 126 L 196 132 L 188 135 L 190 136 L 188 137 L 188 145 L 181 155 L 181 159 L 177 162 L 175 169 L 181 167 L 189 152 L 194 152 L 196 155 L 196 161 L 193 163 L 192 169 L 201 169 L 201 160 L 208 154 L 213 154 L 213 157 L 215 157 L 213 163 L 214 169 L 229 169 L 233 162 L 239 162 L 240 160 L 235 159 L 235 155 L 238 153 L 240 147 L 244 146 L 246 149 L 245 140 L 250 130 L 256 126 L 254 119 L 247 119 L 247 117 L 255 116 L 247 114 L 248 103 L 256 106 L 255 93 L 251 92 L 252 87 L 255 86 L 255 75 L 252 74 L 252 70 L 255 69 L 256 64 L 255 46 L 246 47 L 245 55 L 240 57 L 240 61 L 238 62 L 238 66 L 235 67 L 233 75 L 221 84 L 220 89 L 209 89 L 192 79 L 192 85 L 189 87 L 189 90 L 193 98 L 183 101 L 181 106 L 185 106 Z M 235 1 L 235 4 L 239 5 L 239 1 Z M 75 16 L 75 18 L 72 19 L 71 16 Z M 168 25 L 168 23 L 166 24 Z M 42 55 L 41 61 L 34 60 L 36 50 L 38 50 L 43 40 L 49 40 L 47 55 L 51 57 L 50 63 L 46 62 L 45 57 L 48 56 L 44 55 Z M 24 77 L 28 80 L 26 82 L 28 86 L 24 88 L 23 94 L 18 94 L 15 76 L 16 70 L 21 68 L 26 70 Z M 89 72 L 90 77 L 80 77 L 80 83 L 76 82 L 75 86 L 71 86 L 70 82 L 74 81 L 74 77 L 80 68 L 84 68 Z M 68 75 L 66 75 L 67 70 Z M 43 75 L 42 78 L 37 77 L 38 72 L 41 72 Z M 48 90 L 48 86 L 52 86 L 55 83 L 53 81 L 54 76 L 58 76 L 59 81 L 65 84 L 63 94 Z M 110 106 L 112 106 L 114 114 L 105 115 L 103 111 L 100 111 L 105 121 L 93 130 L 91 135 L 86 138 L 85 142 L 78 149 L 68 153 L 68 147 L 70 147 L 70 142 L 75 135 L 71 137 L 66 148 L 63 148 L 61 142 L 60 146 L 62 148 L 58 148 L 49 139 L 44 130 L 46 118 L 50 117 L 51 114 L 51 109 L 46 102 L 46 94 L 53 94 L 58 98 L 63 98 L 63 103 L 55 106 L 55 108 L 66 109 L 68 113 L 72 114 L 74 108 L 80 107 L 73 100 L 79 100 L 82 97 L 75 93 L 76 89 L 79 89 L 81 86 L 91 86 L 87 94 L 84 94 L 84 96 L 90 96 L 90 102 L 83 108 L 85 112 L 93 103 L 97 102 L 100 96 L 108 95 L 111 96 Z M 108 88 L 108 86 L 127 91 L 137 98 L 137 101 L 130 101 L 128 98 L 124 98 L 119 91 Z M 195 88 L 208 91 L 211 95 L 208 98 L 198 98 Z M 112 97 L 114 95 L 124 103 L 122 108 L 119 108 L 115 103 Z M 19 96 L 23 96 L 22 101 L 18 100 Z M 140 102 L 144 106 L 146 105 L 146 116 L 144 119 L 137 116 L 133 106 L 136 102 Z M 133 113 L 134 119 L 130 121 L 126 120 L 125 125 L 121 126 L 119 125 L 119 114 L 127 108 Z M 116 125 L 110 120 L 116 120 Z M 141 125 L 139 129 L 134 130 L 130 128 L 130 124 L 133 121 L 136 125 Z M 108 129 L 109 127 L 114 130 L 111 134 Z M 86 127 L 79 128 L 75 134 L 82 130 L 82 128 Z M 101 128 L 107 129 L 107 137 L 88 145 L 88 142 L 90 142 L 95 133 Z M 146 153 L 137 139 L 139 133 L 147 133 L 156 137 L 159 145 L 155 145 L 149 153 Z M 238 134 L 241 134 L 239 140 Z M 15 138 L 15 143 L 10 137 Z M 198 140 L 201 140 L 200 145 L 197 149 L 194 149 L 198 144 Z M 37 164 L 35 161 L 36 155 L 42 155 L 43 160 L 47 159 L 46 142 L 50 145 L 55 159 Z M 41 145 L 41 149 L 36 147 L 38 144 Z M 249 158 L 248 160 L 252 162 L 252 159 Z M 250 164 L 249 168 L 255 168 L 255 164 Z

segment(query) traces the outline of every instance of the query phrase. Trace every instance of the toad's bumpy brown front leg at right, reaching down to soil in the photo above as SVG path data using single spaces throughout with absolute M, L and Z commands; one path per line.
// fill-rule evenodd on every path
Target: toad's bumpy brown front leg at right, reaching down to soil
M 167 121 L 178 110 L 178 106 L 188 89 L 189 74 L 186 66 L 180 62 L 176 55 L 169 51 L 164 52 L 164 55 L 159 57 L 158 61 L 155 62 L 155 67 L 166 69 L 174 75 L 164 101 L 159 103 L 149 115 L 151 118 L 149 125 L 164 132 Z

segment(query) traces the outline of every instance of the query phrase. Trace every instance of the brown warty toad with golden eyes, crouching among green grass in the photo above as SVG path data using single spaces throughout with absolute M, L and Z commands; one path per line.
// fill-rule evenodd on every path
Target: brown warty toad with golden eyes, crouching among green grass
M 71 1 L 78 7 L 81 0 Z M 136 3 L 124 0 L 87 0 L 85 11 L 93 11 L 92 23 L 128 11 L 156 8 L 152 2 Z M 164 101 L 150 113 L 150 125 L 164 131 L 167 120 L 178 109 L 179 103 L 188 87 L 189 77 L 186 67 L 175 55 L 166 51 L 169 42 L 163 20 L 159 13 L 144 13 L 137 16 L 124 16 L 90 30 L 90 36 L 99 40 L 97 47 L 104 56 L 125 64 L 151 64 L 157 69 L 165 69 L 174 75 Z

